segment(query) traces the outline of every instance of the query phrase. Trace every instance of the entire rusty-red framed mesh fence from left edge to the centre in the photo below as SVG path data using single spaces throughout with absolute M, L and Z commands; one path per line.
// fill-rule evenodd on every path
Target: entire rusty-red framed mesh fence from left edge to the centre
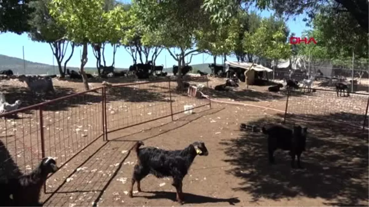
M 203 88 L 208 79 L 186 81 Z M 210 105 L 206 98 L 177 92 L 176 85 L 166 80 L 95 88 L 0 115 L 0 178 L 28 173 L 43 157 L 63 166 L 109 132 L 169 116 L 174 120 Z

